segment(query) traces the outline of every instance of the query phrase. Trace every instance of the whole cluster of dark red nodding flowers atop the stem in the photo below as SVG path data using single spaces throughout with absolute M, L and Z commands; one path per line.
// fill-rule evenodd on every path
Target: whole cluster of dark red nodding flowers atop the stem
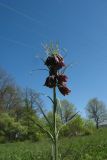
M 45 65 L 49 69 L 49 76 L 46 78 L 44 85 L 49 88 L 58 87 L 62 95 L 68 95 L 71 92 L 65 84 L 68 77 L 59 72 L 65 66 L 63 57 L 59 54 L 49 55 L 45 61 Z

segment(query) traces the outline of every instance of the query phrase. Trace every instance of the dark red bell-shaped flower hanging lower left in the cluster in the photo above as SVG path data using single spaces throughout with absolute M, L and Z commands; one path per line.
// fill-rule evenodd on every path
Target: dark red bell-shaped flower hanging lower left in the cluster
M 56 77 L 54 75 L 47 77 L 44 85 L 49 88 L 56 87 Z

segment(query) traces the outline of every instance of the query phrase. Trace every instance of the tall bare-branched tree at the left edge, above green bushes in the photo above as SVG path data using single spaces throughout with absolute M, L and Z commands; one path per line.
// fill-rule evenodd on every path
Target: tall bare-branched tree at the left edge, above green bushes
M 0 68 L 0 110 L 10 111 L 18 108 L 21 103 L 19 88 L 13 79 L 3 69 Z

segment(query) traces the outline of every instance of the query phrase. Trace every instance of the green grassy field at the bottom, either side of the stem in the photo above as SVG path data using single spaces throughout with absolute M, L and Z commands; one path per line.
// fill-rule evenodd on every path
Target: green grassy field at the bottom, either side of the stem
M 51 160 L 51 145 L 41 142 L 0 144 L 0 160 Z M 107 129 L 60 140 L 61 160 L 107 160 Z

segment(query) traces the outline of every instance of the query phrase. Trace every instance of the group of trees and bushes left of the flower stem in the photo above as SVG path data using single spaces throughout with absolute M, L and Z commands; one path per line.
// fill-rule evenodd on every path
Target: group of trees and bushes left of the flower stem
M 34 90 L 17 87 L 11 76 L 0 69 L 0 141 L 30 139 L 37 141 L 40 130 L 34 121 L 39 121 L 40 95 Z

